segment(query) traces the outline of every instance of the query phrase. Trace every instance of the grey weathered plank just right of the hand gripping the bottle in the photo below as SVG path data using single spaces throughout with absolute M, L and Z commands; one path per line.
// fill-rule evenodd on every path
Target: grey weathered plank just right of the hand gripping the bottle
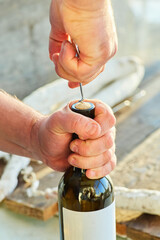
M 141 89 L 146 91 L 146 96 L 116 114 L 118 161 L 160 127 L 160 76 L 142 85 Z

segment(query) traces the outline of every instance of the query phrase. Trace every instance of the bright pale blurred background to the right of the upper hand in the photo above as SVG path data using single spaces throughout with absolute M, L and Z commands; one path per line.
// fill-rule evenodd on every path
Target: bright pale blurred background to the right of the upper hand
M 118 55 L 137 55 L 146 64 L 160 59 L 160 1 L 114 0 Z

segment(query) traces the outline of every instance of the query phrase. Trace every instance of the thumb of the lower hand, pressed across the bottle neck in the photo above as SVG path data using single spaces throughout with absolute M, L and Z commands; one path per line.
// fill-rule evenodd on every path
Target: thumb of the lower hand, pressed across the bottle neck
M 95 120 L 72 112 L 69 104 L 54 113 L 49 122 L 49 128 L 54 133 L 76 133 L 83 140 L 98 138 L 101 133 L 101 127 Z

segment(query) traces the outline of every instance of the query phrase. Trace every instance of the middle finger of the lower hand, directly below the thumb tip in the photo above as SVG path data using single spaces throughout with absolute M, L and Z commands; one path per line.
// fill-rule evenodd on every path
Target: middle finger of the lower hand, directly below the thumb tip
M 115 128 L 112 128 L 105 135 L 95 140 L 82 141 L 76 139 L 70 143 L 70 149 L 72 152 L 78 153 L 84 157 L 97 156 L 113 147 L 114 139 Z

